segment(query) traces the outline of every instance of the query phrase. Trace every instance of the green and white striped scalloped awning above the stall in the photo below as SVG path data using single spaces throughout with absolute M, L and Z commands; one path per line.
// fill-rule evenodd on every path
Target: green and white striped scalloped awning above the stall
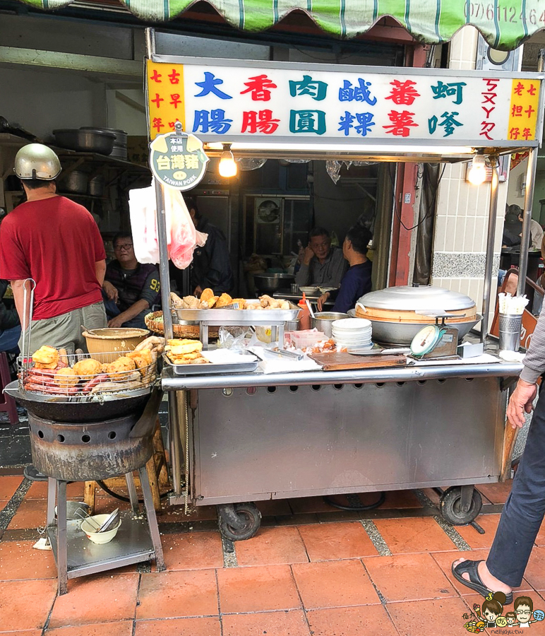
M 72 0 L 24 0 L 54 10 Z M 120 0 L 142 20 L 172 20 L 195 0 Z M 515 49 L 545 28 L 544 0 L 207 0 L 227 22 L 239 29 L 263 31 L 291 11 L 304 11 L 326 33 L 355 37 L 377 20 L 395 18 L 420 42 L 447 42 L 471 24 L 496 49 Z

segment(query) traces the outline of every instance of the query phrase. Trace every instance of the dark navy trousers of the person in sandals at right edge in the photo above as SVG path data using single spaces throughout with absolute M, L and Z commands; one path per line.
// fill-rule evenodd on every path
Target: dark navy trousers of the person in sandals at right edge
M 491 575 L 510 587 L 520 586 L 544 515 L 545 391 L 537 401 L 513 488 L 486 560 Z

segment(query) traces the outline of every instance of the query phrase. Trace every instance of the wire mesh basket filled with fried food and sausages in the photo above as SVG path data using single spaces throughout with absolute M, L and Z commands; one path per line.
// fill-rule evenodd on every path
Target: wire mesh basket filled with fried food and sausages
M 126 395 L 157 380 L 157 358 L 150 351 L 59 354 L 49 364 L 20 357 L 18 363 L 20 389 L 75 400 L 96 394 Z

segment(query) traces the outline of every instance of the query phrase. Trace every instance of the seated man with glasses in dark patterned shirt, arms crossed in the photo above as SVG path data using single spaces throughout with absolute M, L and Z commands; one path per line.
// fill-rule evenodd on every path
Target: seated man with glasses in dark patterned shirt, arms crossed
M 114 236 L 116 260 L 106 267 L 102 295 L 109 327 L 146 329 L 144 317 L 160 299 L 159 271 L 136 260 L 130 232 Z

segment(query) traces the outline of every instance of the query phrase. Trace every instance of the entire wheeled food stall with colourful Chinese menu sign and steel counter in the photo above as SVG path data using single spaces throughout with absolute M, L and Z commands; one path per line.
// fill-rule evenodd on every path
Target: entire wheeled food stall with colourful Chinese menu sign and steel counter
M 428 300 L 418 290 L 408 304 L 406 299 L 396 304 L 394 298 L 393 305 L 382 306 L 395 314 L 393 326 L 433 324 L 430 316 L 440 314 L 448 314 L 447 326 L 456 326 L 458 320 L 455 355 L 430 360 L 404 356 L 386 366 L 378 352 L 369 358 L 353 355 L 352 364 L 343 358 L 342 363 L 328 365 L 321 358 L 317 368 L 308 370 L 299 370 L 297 362 L 289 370 L 286 362 L 287 370 L 279 372 L 263 372 L 263 361 L 240 372 L 220 372 L 221 367 L 212 363 L 189 373 L 167 363 L 162 388 L 169 394 L 171 501 L 217 505 L 222 534 L 232 540 L 256 533 L 260 522 L 256 500 L 402 488 L 449 486 L 441 497 L 443 517 L 456 524 L 471 522 L 481 507 L 473 486 L 496 482 L 508 472 L 511 440 L 505 406 L 508 387 L 522 369 L 519 362 L 493 355 L 497 345 L 486 340 L 498 156 L 530 149 L 524 241 L 542 131 L 541 70 L 503 73 L 498 79 L 480 71 L 395 68 L 385 72 L 372 67 L 182 59 L 155 55 L 152 32 L 148 32 L 148 57 L 152 137 L 161 132 L 157 124 L 176 117 L 184 130 L 202 139 L 208 155 L 219 156 L 228 143 L 227 150 L 238 157 L 454 163 L 477 156 L 474 163 L 480 160 L 484 167 L 486 158 L 492 172 L 481 314 L 476 316 L 474 307 L 464 305 L 469 298 L 446 291 L 441 298 L 428 299 L 426 307 L 421 303 Z M 164 85 L 157 83 L 160 76 L 180 78 L 176 95 L 182 107 L 167 110 L 167 119 L 157 110 L 167 97 Z M 256 93 L 261 97 L 251 102 L 246 95 L 248 102 L 241 102 L 238 94 L 248 93 L 244 90 L 248 78 L 260 78 L 266 97 Z M 264 87 L 265 79 L 269 84 Z M 272 88 L 277 87 L 281 88 L 273 98 Z M 482 122 L 475 117 L 476 95 L 489 104 Z M 260 103 L 263 100 L 265 104 Z M 524 129 L 516 119 L 520 112 L 527 114 Z M 204 121 L 209 125 L 203 126 Z M 159 184 L 156 194 L 162 300 L 163 307 L 170 307 Z M 525 266 L 521 262 L 521 269 Z M 436 291 L 427 289 L 432 295 Z M 230 324 L 250 326 L 263 318 L 255 307 L 239 305 L 229 314 Z M 193 313 L 184 314 L 188 311 Z M 186 319 L 200 326 L 222 324 L 215 311 L 220 310 L 173 305 L 172 312 L 164 312 L 164 334 L 172 338 L 176 323 Z M 380 303 L 374 311 L 373 335 L 376 322 L 389 322 L 378 315 Z M 412 318 L 407 319 L 407 314 Z M 462 324 L 472 322 L 471 328 L 479 320 L 481 355 L 457 359 L 456 343 L 464 338 Z M 386 346 L 400 343 L 394 335 L 381 339 L 387 340 Z M 283 344 L 280 339 L 280 349 Z

